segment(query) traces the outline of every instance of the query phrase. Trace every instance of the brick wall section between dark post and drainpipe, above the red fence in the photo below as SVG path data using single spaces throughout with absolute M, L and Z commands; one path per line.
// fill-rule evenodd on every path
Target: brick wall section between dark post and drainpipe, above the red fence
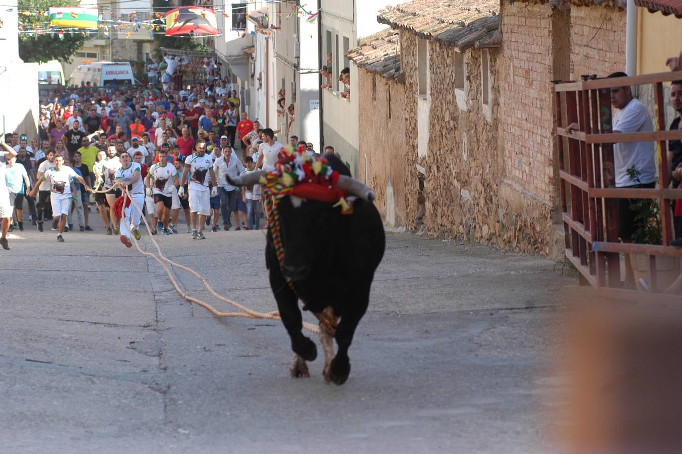
M 572 6 L 572 79 L 615 71 L 625 71 L 625 11 L 597 5 Z

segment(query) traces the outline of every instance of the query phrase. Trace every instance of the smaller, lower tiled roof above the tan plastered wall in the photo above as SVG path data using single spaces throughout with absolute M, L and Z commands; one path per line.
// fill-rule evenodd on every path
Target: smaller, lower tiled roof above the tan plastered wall
M 400 35 L 395 30 L 388 29 L 366 38 L 347 55 L 359 68 L 376 72 L 385 79 L 400 76 Z

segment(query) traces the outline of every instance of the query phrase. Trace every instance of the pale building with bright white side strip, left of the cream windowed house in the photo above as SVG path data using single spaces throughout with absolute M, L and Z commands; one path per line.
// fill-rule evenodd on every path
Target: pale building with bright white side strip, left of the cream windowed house
M 311 142 L 320 150 L 318 24 L 309 22 L 317 12 L 317 1 L 271 3 L 269 24 L 273 32 L 268 76 L 268 124 L 280 130 L 278 140 L 286 143 L 292 135 Z M 312 20 L 312 19 L 311 19 Z M 284 90 L 284 115 L 277 113 Z M 293 104 L 293 122 L 286 108 Z M 289 124 L 291 122 L 291 127 Z

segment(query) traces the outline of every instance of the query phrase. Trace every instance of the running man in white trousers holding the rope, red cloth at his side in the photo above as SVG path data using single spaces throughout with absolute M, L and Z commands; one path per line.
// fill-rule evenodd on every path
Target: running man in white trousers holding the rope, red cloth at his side
M 142 218 L 142 205 L 145 203 L 145 184 L 142 181 L 142 167 L 133 162 L 130 154 L 123 152 L 120 156 L 121 168 L 116 171 L 116 184 L 121 189 L 121 194 L 128 188 L 128 196 L 134 203 L 121 210 L 121 243 L 125 247 L 132 247 L 130 231 L 136 240 L 140 239 L 140 220 Z

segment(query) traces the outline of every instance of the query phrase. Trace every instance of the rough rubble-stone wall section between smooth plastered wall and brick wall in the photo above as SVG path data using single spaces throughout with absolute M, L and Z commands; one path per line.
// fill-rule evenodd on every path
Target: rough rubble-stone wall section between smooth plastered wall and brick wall
M 432 236 L 469 239 L 498 245 L 498 182 L 504 170 L 497 126 L 499 92 L 493 89 L 482 105 L 481 51 L 464 52 L 466 110 L 454 100 L 457 51 L 439 42 L 429 43 L 430 118 L 424 197 L 424 225 Z M 495 79 L 498 52 L 490 52 L 490 80 Z M 494 86 L 494 85 L 493 85 Z

